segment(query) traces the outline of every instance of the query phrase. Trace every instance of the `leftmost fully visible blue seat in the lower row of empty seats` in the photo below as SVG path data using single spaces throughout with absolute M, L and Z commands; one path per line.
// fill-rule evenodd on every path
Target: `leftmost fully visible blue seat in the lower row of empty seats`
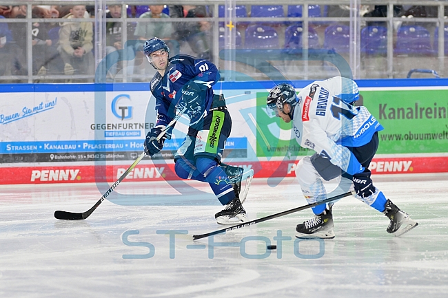
M 245 31 L 246 49 L 278 49 L 278 34 L 268 25 L 250 25 Z

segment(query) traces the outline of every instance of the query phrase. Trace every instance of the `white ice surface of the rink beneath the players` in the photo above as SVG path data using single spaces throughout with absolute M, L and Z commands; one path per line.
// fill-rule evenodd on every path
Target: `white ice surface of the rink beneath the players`
M 90 209 L 95 184 L 2 186 L 0 297 L 448 297 L 448 175 L 374 182 L 417 228 L 389 235 L 383 214 L 349 197 L 334 206 L 334 240 L 296 240 L 305 210 L 190 241 L 174 233 L 223 228 L 206 184 L 123 182 L 74 222 L 53 213 Z M 294 180 L 254 179 L 245 209 L 252 220 L 303 204 Z

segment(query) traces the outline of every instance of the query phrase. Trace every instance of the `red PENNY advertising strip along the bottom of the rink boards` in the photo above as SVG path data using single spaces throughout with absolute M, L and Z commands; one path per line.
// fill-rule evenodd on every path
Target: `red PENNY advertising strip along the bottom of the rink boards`
M 243 169 L 254 169 L 255 178 L 295 177 L 294 171 L 299 160 L 293 161 L 260 161 L 232 162 Z M 84 183 L 84 182 L 115 182 L 128 169 L 128 165 L 70 166 L 53 167 L 4 167 L 0 184 L 50 184 L 50 183 Z M 398 173 L 443 173 L 448 172 L 446 157 L 404 157 L 404 158 L 374 158 L 369 169 L 374 174 Z M 143 182 L 179 180 L 174 173 L 174 163 L 138 164 L 124 182 Z

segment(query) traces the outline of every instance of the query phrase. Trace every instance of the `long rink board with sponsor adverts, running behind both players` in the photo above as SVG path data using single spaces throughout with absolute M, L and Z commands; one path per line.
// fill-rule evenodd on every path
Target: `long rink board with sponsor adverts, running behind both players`
M 297 91 L 310 81 L 293 82 Z M 364 105 L 385 127 L 373 173 L 448 172 L 448 80 L 360 80 Z M 291 126 L 265 111 L 274 82 L 218 83 L 232 115 L 223 153 L 255 177 L 294 176 L 303 156 Z M 416 87 L 417 86 L 417 87 Z M 0 184 L 114 182 L 143 151 L 156 122 L 147 83 L 0 85 Z M 172 162 L 189 120 L 126 180 L 177 180 Z M 384 155 L 384 156 L 383 156 Z

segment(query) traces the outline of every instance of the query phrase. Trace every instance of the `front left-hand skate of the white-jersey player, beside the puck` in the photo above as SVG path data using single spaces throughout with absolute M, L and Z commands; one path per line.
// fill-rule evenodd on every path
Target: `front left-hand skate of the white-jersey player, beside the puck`
M 298 224 L 296 226 L 296 237 L 301 239 L 321 238 L 333 239 L 333 204 L 329 204 L 329 208 L 323 213 L 315 215 L 311 220 Z

